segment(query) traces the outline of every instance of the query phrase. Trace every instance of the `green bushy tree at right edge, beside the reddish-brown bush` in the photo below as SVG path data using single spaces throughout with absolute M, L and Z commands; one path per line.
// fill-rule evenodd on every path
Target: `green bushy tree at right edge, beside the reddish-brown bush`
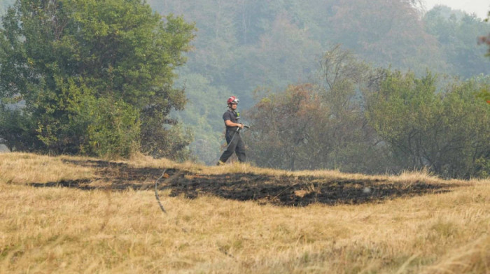
M 416 78 L 388 71 L 368 100 L 370 124 L 400 168 L 429 167 L 449 178 L 488 173 L 490 109 L 475 98 L 488 78 L 455 81 L 440 92 L 436 80 L 430 73 Z

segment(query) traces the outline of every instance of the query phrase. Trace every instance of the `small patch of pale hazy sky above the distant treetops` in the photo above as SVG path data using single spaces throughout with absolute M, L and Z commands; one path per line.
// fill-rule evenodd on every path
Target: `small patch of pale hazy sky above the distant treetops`
M 486 18 L 490 10 L 490 0 L 425 0 L 426 8 L 430 10 L 435 5 L 444 5 L 453 10 L 464 10 L 467 13 L 476 13 L 482 19 Z

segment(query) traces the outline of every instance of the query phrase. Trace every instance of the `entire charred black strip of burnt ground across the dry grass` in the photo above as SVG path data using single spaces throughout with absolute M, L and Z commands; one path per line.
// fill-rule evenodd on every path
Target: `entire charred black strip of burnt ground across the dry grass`
M 134 168 L 111 161 L 64 161 L 95 168 L 97 178 L 34 182 L 29 185 L 73 187 L 84 190 L 149 190 L 153 189 L 155 180 L 160 178 L 163 171 L 160 168 Z M 274 176 L 255 173 L 205 175 L 177 169 L 167 170 L 165 176 L 159 180 L 158 186 L 159 189 L 170 189 L 170 196 L 183 196 L 187 199 L 209 195 L 276 206 L 307 206 L 310 203 L 327 205 L 379 203 L 398 197 L 444 193 L 449 192 L 453 187 L 459 187 L 454 184 L 422 181 L 400 183 L 388 180 L 335 180 L 316 176 Z

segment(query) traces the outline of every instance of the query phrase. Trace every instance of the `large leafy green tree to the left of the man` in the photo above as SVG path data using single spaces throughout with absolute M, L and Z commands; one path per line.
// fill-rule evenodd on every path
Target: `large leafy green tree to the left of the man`
M 189 136 L 165 124 L 186 103 L 173 81 L 192 24 L 163 20 L 140 0 L 18 0 L 2 23 L 2 111 L 35 125 L 41 143 L 30 150 L 127 156 L 141 147 L 172 157 L 185 149 Z M 19 101 L 20 110 L 7 106 Z M 1 124 L 10 147 L 15 127 Z

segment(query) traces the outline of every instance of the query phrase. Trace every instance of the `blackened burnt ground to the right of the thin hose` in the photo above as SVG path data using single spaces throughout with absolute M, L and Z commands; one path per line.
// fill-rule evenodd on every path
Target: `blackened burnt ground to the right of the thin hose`
M 449 192 L 449 185 L 384 180 L 332 180 L 311 176 L 271 176 L 254 173 L 199 175 L 178 172 L 165 187 L 171 196 L 193 199 L 202 194 L 239 201 L 258 201 L 276 206 L 307 206 L 310 203 L 358 204 L 402 196 Z

